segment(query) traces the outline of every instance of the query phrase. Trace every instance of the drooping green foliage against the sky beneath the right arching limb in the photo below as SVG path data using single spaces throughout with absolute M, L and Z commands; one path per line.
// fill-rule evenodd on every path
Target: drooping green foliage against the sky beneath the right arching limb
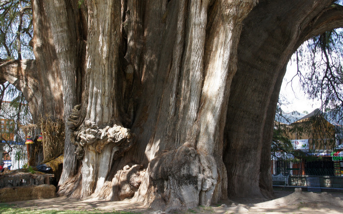
M 327 31 L 305 42 L 294 54 L 297 76 L 309 99 L 322 112 L 343 119 L 343 29 Z

